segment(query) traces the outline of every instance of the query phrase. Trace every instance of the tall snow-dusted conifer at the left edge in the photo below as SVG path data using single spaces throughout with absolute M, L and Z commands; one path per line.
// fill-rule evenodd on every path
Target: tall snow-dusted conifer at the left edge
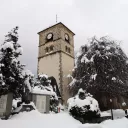
M 18 44 L 18 27 L 5 36 L 0 48 L 0 95 L 12 92 L 14 98 L 23 95 L 25 78 L 22 75 L 24 65 L 18 60 L 22 55 L 22 47 Z

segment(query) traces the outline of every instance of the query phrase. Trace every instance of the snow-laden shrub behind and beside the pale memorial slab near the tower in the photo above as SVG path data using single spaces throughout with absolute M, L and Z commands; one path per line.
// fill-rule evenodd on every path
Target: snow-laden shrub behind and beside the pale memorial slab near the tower
M 51 81 L 49 80 L 48 75 L 40 74 L 38 75 L 37 81 L 35 82 L 33 92 L 43 93 L 43 94 L 50 94 L 50 109 L 54 111 L 57 109 L 58 106 L 58 96 L 51 85 Z

